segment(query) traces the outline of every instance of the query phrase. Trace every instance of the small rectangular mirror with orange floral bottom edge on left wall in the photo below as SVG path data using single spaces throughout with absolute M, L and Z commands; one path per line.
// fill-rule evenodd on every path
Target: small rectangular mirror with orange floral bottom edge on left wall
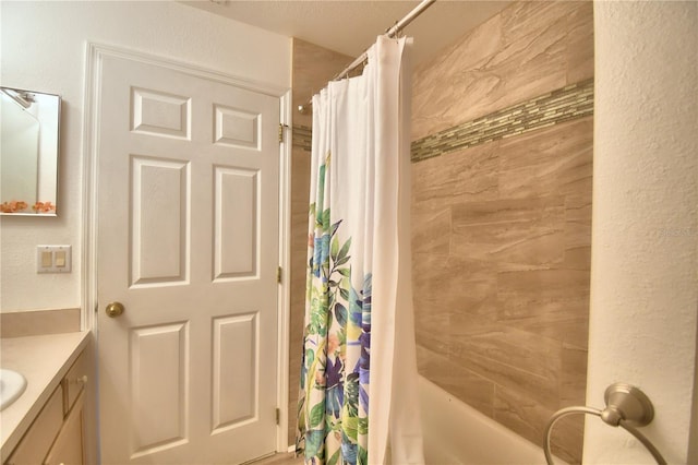
M 0 214 L 56 216 L 61 97 L 0 87 Z

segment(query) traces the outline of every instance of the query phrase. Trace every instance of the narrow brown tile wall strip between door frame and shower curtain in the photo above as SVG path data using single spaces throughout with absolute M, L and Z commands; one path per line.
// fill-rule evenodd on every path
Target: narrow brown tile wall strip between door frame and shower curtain
M 329 79 L 353 59 L 316 45 L 293 39 L 293 105 L 306 104 Z M 289 443 L 296 442 L 298 388 L 300 382 L 303 315 L 305 313 L 305 264 L 308 261 L 308 206 L 310 204 L 310 152 L 301 139 L 312 126 L 312 111 L 293 111 L 293 150 L 291 153 L 291 317 L 289 356 Z

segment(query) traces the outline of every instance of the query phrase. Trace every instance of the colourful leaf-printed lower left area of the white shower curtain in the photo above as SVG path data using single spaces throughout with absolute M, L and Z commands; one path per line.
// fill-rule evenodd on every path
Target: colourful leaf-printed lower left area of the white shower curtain
M 329 164 L 327 154 L 310 205 L 296 450 L 306 464 L 366 464 L 371 274 L 354 269 L 345 218 L 325 204 Z

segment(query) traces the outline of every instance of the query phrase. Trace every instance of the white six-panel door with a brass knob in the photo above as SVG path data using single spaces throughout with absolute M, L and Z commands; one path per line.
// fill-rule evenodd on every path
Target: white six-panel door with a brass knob
M 105 464 L 237 464 L 275 451 L 279 102 L 101 61 Z M 125 311 L 110 318 L 117 301 Z

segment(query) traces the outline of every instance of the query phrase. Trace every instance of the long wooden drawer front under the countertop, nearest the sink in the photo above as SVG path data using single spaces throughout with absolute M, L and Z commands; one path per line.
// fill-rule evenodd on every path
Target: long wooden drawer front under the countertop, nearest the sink
M 58 386 L 8 460 L 9 465 L 44 462 L 63 425 L 63 389 Z

